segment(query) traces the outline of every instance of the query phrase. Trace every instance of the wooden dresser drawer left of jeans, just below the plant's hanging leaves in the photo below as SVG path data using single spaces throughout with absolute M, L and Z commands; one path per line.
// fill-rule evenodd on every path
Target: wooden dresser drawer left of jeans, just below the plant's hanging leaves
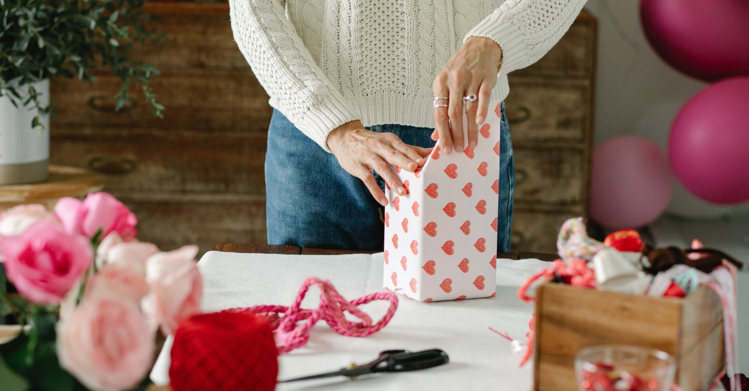
M 265 138 L 65 131 L 52 129 L 52 164 L 91 168 L 104 175 L 106 191 L 265 194 Z

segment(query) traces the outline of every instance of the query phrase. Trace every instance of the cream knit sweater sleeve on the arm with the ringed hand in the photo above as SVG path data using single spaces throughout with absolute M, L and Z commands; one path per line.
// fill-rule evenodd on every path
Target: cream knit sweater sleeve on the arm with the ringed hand
M 468 37 L 485 37 L 502 48 L 502 73 L 539 61 L 567 32 L 587 0 L 506 0 Z

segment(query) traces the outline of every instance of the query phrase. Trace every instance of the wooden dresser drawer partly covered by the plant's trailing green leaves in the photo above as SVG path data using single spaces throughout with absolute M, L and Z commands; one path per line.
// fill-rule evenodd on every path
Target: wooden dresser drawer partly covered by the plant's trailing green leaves
M 100 129 L 180 129 L 207 133 L 241 132 L 264 135 L 273 108 L 265 91 L 248 72 L 163 73 L 151 79 L 151 88 L 166 106 L 163 119 L 154 117 L 154 109 L 145 102 L 143 93 L 131 88 L 131 101 L 115 111 L 115 99 L 121 81 L 115 76 L 100 75 L 94 87 L 79 80 L 53 78 L 52 129 L 58 126 Z

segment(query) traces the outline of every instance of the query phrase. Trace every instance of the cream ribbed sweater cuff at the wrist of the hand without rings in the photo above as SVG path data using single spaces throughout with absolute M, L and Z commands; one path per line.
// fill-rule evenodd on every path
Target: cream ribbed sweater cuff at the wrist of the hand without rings
M 333 129 L 344 123 L 361 120 L 361 116 L 356 114 L 353 106 L 338 91 L 331 91 L 327 94 L 327 99 L 320 99 L 307 106 L 300 114 L 298 120 L 293 121 L 294 125 L 326 152 L 331 152 L 327 136 Z

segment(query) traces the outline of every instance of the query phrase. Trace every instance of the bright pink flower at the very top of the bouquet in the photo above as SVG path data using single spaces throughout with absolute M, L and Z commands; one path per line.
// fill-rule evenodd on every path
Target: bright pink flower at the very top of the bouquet
M 61 198 L 55 205 L 55 215 L 68 232 L 79 232 L 91 238 L 99 230 L 103 237 L 118 233 L 124 241 L 136 237 L 136 216 L 112 194 L 98 192 L 88 194 L 85 200 Z

